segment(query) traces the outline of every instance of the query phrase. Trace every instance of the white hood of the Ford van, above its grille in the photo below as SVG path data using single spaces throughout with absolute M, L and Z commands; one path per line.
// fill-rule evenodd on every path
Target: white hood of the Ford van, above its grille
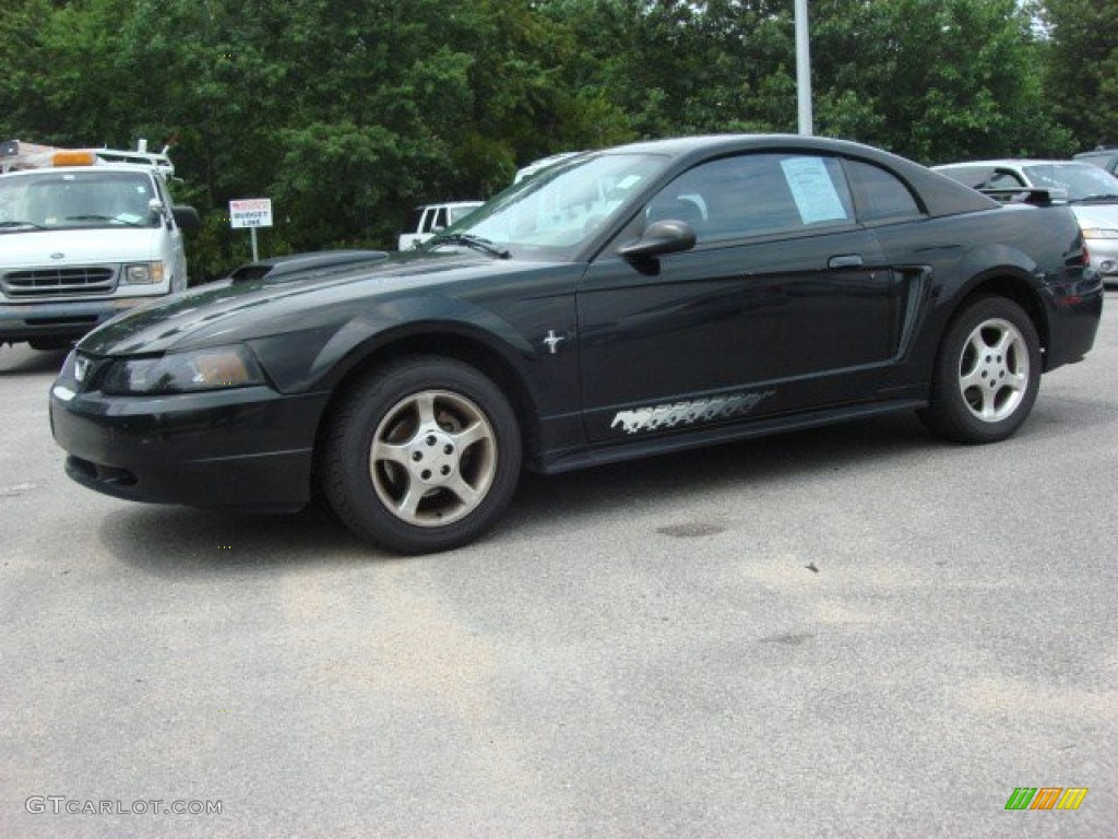
M 158 227 L 38 230 L 0 233 L 0 263 L 4 268 L 44 265 L 98 265 L 158 258 Z

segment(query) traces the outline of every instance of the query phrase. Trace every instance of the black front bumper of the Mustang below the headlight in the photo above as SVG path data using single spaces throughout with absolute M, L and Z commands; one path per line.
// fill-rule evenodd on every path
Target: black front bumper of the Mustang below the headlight
M 69 367 L 69 365 L 67 365 Z M 311 498 L 326 394 L 246 387 L 165 396 L 75 393 L 63 377 L 50 427 L 78 483 L 130 501 L 297 510 Z

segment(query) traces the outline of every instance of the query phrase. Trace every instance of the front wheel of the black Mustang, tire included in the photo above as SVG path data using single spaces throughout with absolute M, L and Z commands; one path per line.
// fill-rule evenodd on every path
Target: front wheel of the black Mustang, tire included
M 480 536 L 508 506 L 521 466 L 517 416 L 475 368 L 423 356 L 349 392 L 322 446 L 322 484 L 359 536 L 407 554 Z

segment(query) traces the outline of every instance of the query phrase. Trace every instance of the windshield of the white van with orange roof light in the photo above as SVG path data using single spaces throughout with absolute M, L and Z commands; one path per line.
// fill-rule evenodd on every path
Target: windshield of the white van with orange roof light
M 36 171 L 0 178 L 0 233 L 39 228 L 154 227 L 144 172 Z

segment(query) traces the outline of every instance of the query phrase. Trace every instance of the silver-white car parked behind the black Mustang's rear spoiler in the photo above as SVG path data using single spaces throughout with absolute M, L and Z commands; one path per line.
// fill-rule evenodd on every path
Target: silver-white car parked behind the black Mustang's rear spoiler
M 1118 178 L 1070 160 L 980 160 L 932 168 L 980 190 L 1053 190 L 1053 197 L 1071 205 L 1079 219 L 1091 267 L 1105 283 L 1118 283 Z

